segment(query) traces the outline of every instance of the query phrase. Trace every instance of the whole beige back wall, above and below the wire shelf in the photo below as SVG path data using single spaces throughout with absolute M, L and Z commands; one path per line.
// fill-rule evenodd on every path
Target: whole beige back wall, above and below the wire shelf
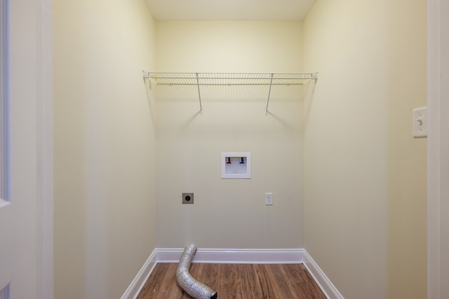
M 302 71 L 301 22 L 156 22 L 158 71 Z M 162 88 L 157 97 L 157 246 L 298 248 L 302 101 L 295 88 Z M 222 152 L 250 152 L 251 179 L 221 179 Z M 182 205 L 181 193 L 194 192 Z M 274 205 L 264 205 L 264 193 Z

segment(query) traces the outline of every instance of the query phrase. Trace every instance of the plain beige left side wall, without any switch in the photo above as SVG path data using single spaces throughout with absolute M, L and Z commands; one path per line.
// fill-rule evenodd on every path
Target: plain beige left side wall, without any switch
M 53 1 L 55 298 L 119 298 L 156 246 L 154 22 L 144 1 Z

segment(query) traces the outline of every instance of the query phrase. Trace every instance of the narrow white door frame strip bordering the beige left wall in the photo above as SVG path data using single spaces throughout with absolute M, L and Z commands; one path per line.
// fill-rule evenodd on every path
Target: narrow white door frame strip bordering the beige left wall
M 53 0 L 36 8 L 37 294 L 53 299 Z

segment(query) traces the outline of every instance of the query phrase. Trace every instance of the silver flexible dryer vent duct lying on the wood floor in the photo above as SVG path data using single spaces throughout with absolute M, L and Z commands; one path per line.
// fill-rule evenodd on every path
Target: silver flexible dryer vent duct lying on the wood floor
M 176 280 L 180 287 L 195 299 L 216 299 L 217 292 L 212 288 L 197 281 L 190 275 L 189 269 L 192 264 L 192 259 L 196 253 L 196 247 L 191 244 L 184 249 L 180 263 L 176 269 Z

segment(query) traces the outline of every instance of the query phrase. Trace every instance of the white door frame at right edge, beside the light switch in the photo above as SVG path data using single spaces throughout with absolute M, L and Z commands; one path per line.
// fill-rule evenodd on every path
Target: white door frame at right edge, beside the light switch
M 427 298 L 448 298 L 449 286 L 449 4 L 428 0 Z M 446 111 L 446 112 L 444 112 Z

